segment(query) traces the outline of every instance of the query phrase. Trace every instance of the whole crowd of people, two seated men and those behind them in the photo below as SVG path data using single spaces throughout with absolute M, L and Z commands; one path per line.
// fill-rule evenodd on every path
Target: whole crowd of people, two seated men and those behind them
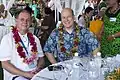
M 37 21 L 35 0 L 21 9 L 12 22 L 9 21 L 13 18 L 7 17 L 9 12 L 0 5 L 0 30 L 8 30 L 0 33 L 4 80 L 30 80 L 45 67 L 45 57 L 55 64 L 72 59 L 75 53 L 79 57 L 94 57 L 98 52 L 102 57 L 120 54 L 120 0 L 106 0 L 104 10 L 98 6 L 96 11 L 96 4 L 93 7 L 85 5 L 78 22 L 71 8 L 63 8 L 58 27 L 48 6 L 44 8 L 43 20 Z M 41 37 L 29 31 L 34 25 L 33 18 Z

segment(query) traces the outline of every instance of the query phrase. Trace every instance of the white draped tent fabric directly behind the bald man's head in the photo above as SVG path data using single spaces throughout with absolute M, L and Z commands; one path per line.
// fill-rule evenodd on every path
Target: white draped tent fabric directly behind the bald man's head
M 73 9 L 76 18 L 78 17 L 79 14 L 82 14 L 82 10 L 85 4 L 85 0 L 52 0 L 52 1 L 55 4 L 55 10 L 57 9 L 59 12 L 61 12 L 63 8 Z M 59 15 L 56 14 L 55 17 L 56 16 Z

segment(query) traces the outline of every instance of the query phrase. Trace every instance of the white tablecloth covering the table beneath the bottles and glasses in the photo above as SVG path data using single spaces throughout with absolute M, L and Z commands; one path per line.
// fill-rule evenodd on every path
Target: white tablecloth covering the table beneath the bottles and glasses
M 116 62 L 116 61 L 118 61 L 117 60 L 118 58 L 120 58 L 120 56 L 117 56 L 116 58 L 113 57 L 111 59 L 110 58 L 104 59 L 105 61 L 108 61 L 107 62 L 108 65 L 107 66 L 109 67 L 109 71 L 110 71 L 110 69 L 113 69 L 114 67 L 116 67 L 116 63 L 117 63 L 117 65 L 119 64 L 119 62 Z M 90 79 L 91 75 L 92 75 L 92 77 L 95 77 L 95 75 L 98 74 L 98 72 L 99 72 L 98 68 L 95 71 L 96 73 L 91 72 L 91 67 L 89 67 L 89 65 L 94 64 L 94 62 L 92 63 L 92 61 L 90 61 L 90 62 L 87 63 L 87 66 L 89 67 L 87 71 L 83 69 L 83 65 L 84 64 L 81 61 L 80 61 L 80 63 L 82 65 L 80 65 L 79 68 L 75 67 L 75 62 L 76 61 L 74 61 L 74 60 L 68 60 L 68 61 L 60 62 L 60 63 L 54 64 L 54 65 L 62 65 L 63 67 L 65 67 L 65 65 L 67 65 L 68 62 L 72 65 L 71 76 L 69 77 L 69 79 L 66 79 L 68 75 L 65 73 L 65 70 L 64 71 L 58 71 L 59 72 L 58 74 L 62 75 L 62 76 L 59 76 L 58 80 L 104 80 L 104 70 L 106 69 L 104 67 L 104 65 L 105 65 L 104 63 L 102 63 L 103 65 L 102 65 L 102 67 L 100 67 L 99 78 L 97 78 L 97 79 Z M 114 65 L 114 66 L 111 66 L 111 64 Z M 94 66 L 94 65 L 92 65 L 92 66 Z M 97 64 L 97 66 L 98 66 L 98 64 Z M 70 66 L 67 66 L 67 67 L 70 68 Z M 120 65 L 118 65 L 118 67 L 120 67 Z M 92 69 L 94 69 L 94 68 L 92 68 Z M 40 72 L 38 72 L 32 78 L 32 80 L 55 80 L 54 76 L 55 76 L 55 71 L 49 71 L 48 67 L 46 67 L 45 69 L 43 69 Z M 77 76 L 79 76 L 80 78 L 78 79 Z

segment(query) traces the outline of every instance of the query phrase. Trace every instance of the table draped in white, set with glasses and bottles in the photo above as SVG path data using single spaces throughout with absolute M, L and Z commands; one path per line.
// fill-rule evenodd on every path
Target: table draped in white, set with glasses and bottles
M 53 64 L 54 66 L 62 65 L 64 67 L 63 70 L 49 71 L 48 67 L 46 67 L 45 69 L 38 72 L 31 80 L 55 80 L 55 74 L 58 74 L 59 77 L 58 80 L 104 80 L 104 71 L 107 69 L 109 69 L 109 71 L 110 70 L 113 71 L 113 68 L 116 67 L 115 64 L 116 59 L 120 59 L 120 56 L 104 59 L 104 61 L 108 61 L 108 62 L 110 61 L 109 65 L 107 63 L 106 68 L 103 67 L 105 65 L 103 62 L 100 68 L 98 64 L 97 65 L 94 64 L 95 59 L 90 60 L 89 62 L 86 61 L 87 63 L 83 63 L 83 61 L 86 59 L 72 59 L 72 60 Z M 111 67 L 111 64 L 114 66 Z M 93 68 L 91 68 L 91 66 Z M 120 67 L 120 64 L 118 66 Z M 97 75 L 98 73 L 99 75 Z M 69 76 L 69 78 L 67 76 Z

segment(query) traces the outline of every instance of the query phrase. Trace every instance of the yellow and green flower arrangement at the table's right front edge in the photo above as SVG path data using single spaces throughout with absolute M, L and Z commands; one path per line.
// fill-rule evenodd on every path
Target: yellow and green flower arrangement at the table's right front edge
M 105 76 L 105 80 L 120 80 L 120 68 L 115 69 L 113 72 Z

